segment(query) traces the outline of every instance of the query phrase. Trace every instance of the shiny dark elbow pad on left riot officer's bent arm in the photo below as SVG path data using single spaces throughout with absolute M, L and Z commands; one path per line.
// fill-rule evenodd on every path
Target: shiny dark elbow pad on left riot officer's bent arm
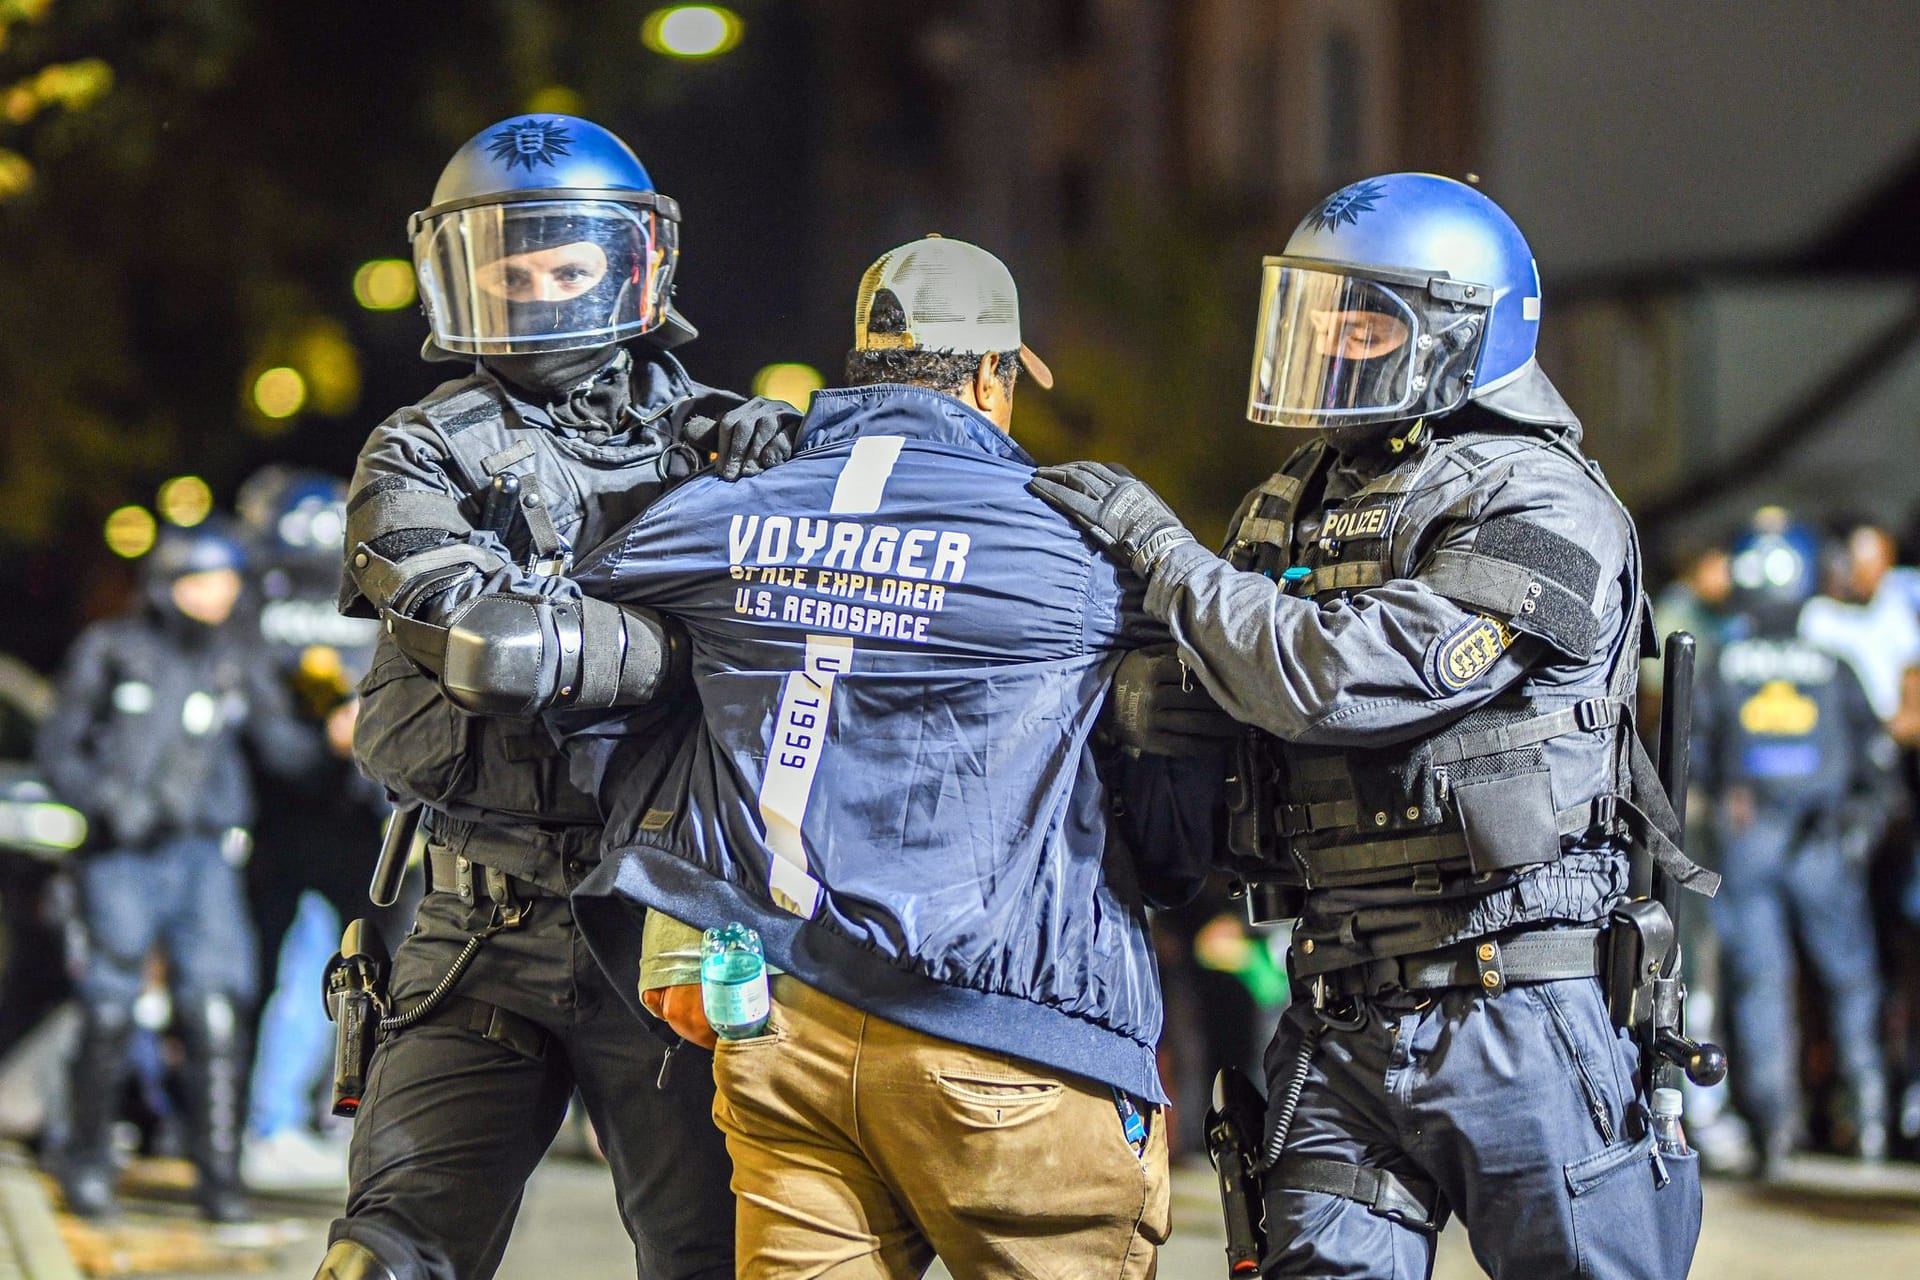
M 447 628 L 440 685 L 480 716 L 637 706 L 685 679 L 678 624 L 605 601 L 478 595 Z

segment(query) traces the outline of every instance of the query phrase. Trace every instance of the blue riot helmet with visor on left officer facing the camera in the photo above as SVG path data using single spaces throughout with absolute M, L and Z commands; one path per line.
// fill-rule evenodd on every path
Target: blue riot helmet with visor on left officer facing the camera
M 693 336 L 670 303 L 680 205 L 591 121 L 515 115 L 482 129 L 407 236 L 430 347 L 530 355 Z

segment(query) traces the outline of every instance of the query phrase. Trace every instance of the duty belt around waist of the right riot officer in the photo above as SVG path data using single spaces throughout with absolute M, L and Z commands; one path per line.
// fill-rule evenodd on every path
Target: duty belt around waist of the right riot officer
M 1365 960 L 1311 973 L 1311 952 L 1294 948 L 1288 963 L 1315 1007 L 1350 996 L 1473 988 L 1494 996 L 1507 986 L 1590 979 L 1605 971 L 1605 929 L 1534 929 L 1505 938 L 1486 936 L 1413 956 Z

